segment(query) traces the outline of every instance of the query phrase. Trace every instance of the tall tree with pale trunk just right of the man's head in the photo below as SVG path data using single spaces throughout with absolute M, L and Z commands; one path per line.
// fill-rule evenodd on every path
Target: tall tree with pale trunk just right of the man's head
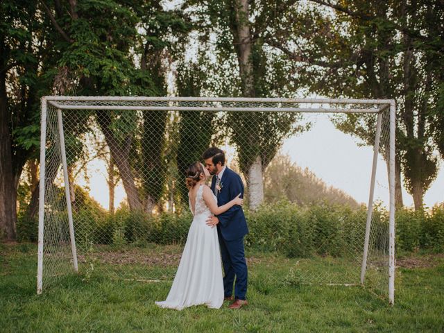
M 226 78 L 225 92 L 234 96 L 293 96 L 297 87 L 288 85 L 287 63 L 264 44 L 266 31 L 280 24 L 280 14 L 291 1 L 188 1 L 191 20 L 202 39 L 215 41 L 214 56 L 219 64 L 235 64 Z M 216 37 L 214 37 L 216 36 Z M 234 61 L 233 61 L 234 60 Z M 223 66 L 214 66 L 221 68 Z M 226 68 L 225 68 L 226 69 Z M 230 70 L 230 69 L 226 69 Z M 217 76 L 218 74 L 216 74 Z M 214 85 L 217 92 L 218 85 Z M 258 108 L 263 105 L 257 105 Z M 231 112 L 226 117 L 230 141 L 237 147 L 239 166 L 248 183 L 251 209 L 264 200 L 263 172 L 280 148 L 282 139 L 304 128 L 296 126 L 296 114 Z

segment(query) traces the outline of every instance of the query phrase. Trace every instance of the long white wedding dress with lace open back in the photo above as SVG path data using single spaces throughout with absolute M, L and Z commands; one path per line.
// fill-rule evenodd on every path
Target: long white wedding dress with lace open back
M 216 228 L 206 225 L 212 215 L 203 200 L 203 185 L 196 194 L 194 219 L 167 300 L 160 307 L 181 310 L 192 305 L 219 309 L 223 303 L 221 253 Z M 213 195 L 214 196 L 214 195 Z M 214 196 L 215 200 L 216 196 Z M 189 203 L 190 210 L 191 201 Z

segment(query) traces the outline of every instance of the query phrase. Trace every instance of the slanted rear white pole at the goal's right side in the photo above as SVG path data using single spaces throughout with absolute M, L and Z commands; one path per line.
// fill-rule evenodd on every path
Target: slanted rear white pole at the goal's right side
M 366 268 L 367 268 L 368 242 L 370 241 L 370 227 L 371 227 L 372 212 L 373 212 L 373 196 L 375 194 L 377 155 L 379 153 L 379 139 L 381 137 L 381 123 L 382 123 L 382 113 L 379 113 L 377 115 L 375 145 L 373 146 L 373 166 L 372 166 L 372 176 L 370 178 L 370 194 L 368 195 L 366 238 L 364 240 L 364 255 L 362 256 L 362 264 L 361 264 L 361 284 L 364 284 L 364 278 L 366 276 Z

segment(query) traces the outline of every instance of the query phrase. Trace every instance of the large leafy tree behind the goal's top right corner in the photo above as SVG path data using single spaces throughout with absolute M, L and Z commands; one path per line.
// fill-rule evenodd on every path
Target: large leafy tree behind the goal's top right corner
M 430 5 L 425 1 L 313 0 L 303 10 L 305 17 L 297 17 L 298 24 L 267 38 L 294 60 L 298 82 L 305 82 L 312 92 L 396 99 L 396 198 L 402 202 L 402 172 L 417 209 L 422 207 L 422 196 L 437 172 L 433 153 L 436 135 L 429 117 L 436 105 L 438 85 L 432 69 L 437 65 L 427 60 L 427 49 L 442 42 L 434 36 L 436 33 L 426 33 L 430 28 L 425 26 L 431 20 L 442 26 L 438 19 L 442 17 L 442 6 L 438 1 Z M 296 15 L 297 11 L 297 7 L 293 8 Z M 436 52 L 436 45 L 434 48 Z M 350 117 L 343 122 L 343 128 L 358 137 L 358 132 L 374 137 L 373 123 L 363 121 L 359 125 Z M 365 123 L 352 129 L 355 124 Z

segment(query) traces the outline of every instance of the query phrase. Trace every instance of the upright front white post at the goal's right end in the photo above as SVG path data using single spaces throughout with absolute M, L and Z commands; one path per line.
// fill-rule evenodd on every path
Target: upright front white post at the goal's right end
M 390 103 L 390 213 L 388 222 L 388 302 L 395 302 L 395 101 Z

